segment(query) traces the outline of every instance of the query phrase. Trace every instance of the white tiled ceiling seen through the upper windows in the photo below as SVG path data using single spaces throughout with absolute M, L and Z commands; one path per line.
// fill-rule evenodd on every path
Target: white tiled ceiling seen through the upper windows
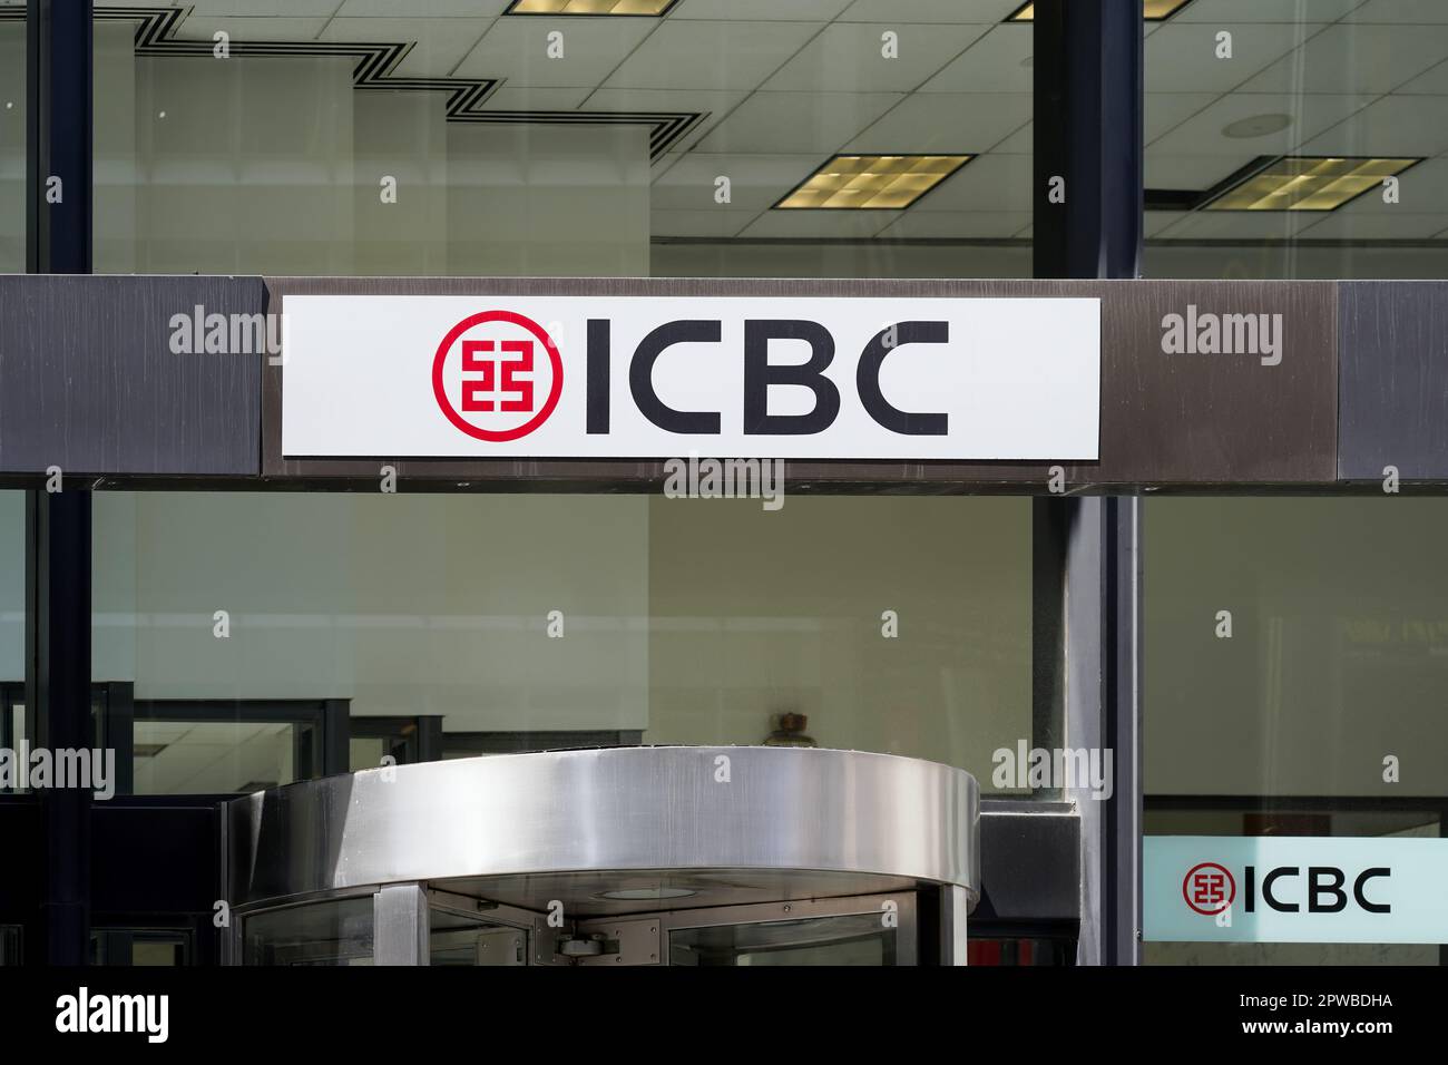
M 1030 241 L 1034 41 L 1002 22 L 1019 0 L 679 0 L 666 17 L 565 17 L 566 72 L 534 52 L 549 19 L 507 17 L 507 0 L 96 3 L 97 19 L 142 22 L 143 54 L 206 54 L 235 19 L 274 42 L 233 41 L 236 54 L 348 57 L 359 88 L 445 93 L 450 122 L 647 123 L 656 242 Z M 886 29 L 898 67 L 867 61 Z M 1224 30 L 1231 61 L 1216 55 Z M 1444 0 L 1192 0 L 1148 23 L 1145 54 L 1148 241 L 1448 242 Z M 834 155 L 922 152 L 975 158 L 909 210 L 773 210 Z M 1195 210 L 1283 155 L 1423 162 L 1400 206 Z M 721 177 L 733 199 L 715 199 Z

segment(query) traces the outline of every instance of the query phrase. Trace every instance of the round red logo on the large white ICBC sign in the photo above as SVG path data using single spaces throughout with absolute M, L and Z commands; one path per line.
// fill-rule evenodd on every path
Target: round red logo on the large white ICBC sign
M 511 310 L 471 314 L 433 356 L 433 396 L 479 440 L 515 440 L 543 425 L 563 394 L 563 359 L 537 322 Z

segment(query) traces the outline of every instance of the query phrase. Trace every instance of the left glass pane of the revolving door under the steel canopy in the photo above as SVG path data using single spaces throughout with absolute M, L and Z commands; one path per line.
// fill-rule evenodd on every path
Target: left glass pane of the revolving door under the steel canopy
M 245 965 L 371 965 L 372 895 L 251 914 Z

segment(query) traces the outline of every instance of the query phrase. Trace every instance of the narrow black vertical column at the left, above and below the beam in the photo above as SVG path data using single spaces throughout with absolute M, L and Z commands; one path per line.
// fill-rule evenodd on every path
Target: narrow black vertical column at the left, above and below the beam
M 26 264 L 35 274 L 88 274 L 91 0 L 29 0 L 26 16 Z M 91 497 L 70 478 L 62 485 L 33 490 L 28 503 L 26 696 L 52 752 L 91 746 Z M 87 788 L 43 795 L 41 924 L 52 965 L 90 956 L 90 803 Z

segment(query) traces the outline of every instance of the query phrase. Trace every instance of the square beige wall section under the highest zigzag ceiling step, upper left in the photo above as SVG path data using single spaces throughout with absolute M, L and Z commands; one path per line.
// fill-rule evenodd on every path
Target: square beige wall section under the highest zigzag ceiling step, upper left
M 352 59 L 135 71 L 138 271 L 352 272 Z

